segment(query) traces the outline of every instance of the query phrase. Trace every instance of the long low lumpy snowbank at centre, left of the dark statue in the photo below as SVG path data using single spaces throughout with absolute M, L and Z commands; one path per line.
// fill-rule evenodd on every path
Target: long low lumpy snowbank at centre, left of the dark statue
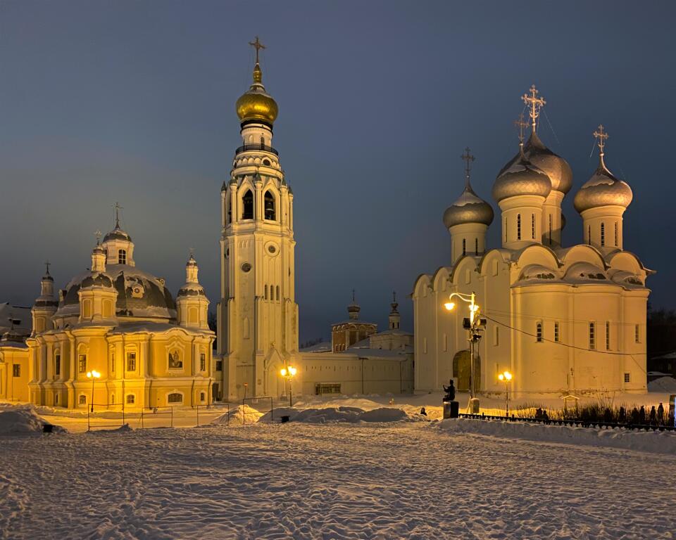
M 308 424 L 325 423 L 357 423 L 357 422 L 399 422 L 401 420 L 411 420 L 411 417 L 402 409 L 392 407 L 379 407 L 364 411 L 359 407 L 339 406 L 324 407 L 321 409 L 296 409 L 295 407 L 280 407 L 275 409 L 274 416 L 266 413 L 259 421 L 270 422 L 270 420 L 280 420 L 282 416 L 288 416 L 289 421 L 303 422 Z

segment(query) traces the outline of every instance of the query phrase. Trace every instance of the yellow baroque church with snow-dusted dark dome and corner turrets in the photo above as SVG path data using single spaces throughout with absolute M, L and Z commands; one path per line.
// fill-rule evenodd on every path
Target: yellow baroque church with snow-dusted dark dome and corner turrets
M 0 373 L 0 397 L 68 409 L 211 403 L 215 335 L 197 272 L 191 254 L 174 300 L 162 278 L 136 267 L 117 219 L 90 269 L 58 298 L 47 266 L 32 333 L 25 343 L 11 333 L 0 342 L 0 366 L 12 371 Z

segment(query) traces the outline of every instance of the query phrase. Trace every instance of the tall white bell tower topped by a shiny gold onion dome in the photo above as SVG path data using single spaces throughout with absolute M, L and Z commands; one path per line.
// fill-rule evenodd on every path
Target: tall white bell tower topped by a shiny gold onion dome
M 265 92 L 256 37 L 253 83 L 237 100 L 242 145 L 221 188 L 218 355 L 227 397 L 279 396 L 298 354 L 291 187 L 273 148 L 277 103 Z

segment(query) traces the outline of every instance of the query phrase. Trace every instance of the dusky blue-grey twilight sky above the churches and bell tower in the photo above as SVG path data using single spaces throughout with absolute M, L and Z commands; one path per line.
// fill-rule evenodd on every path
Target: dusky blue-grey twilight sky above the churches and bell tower
M 533 83 L 539 134 L 574 174 L 564 245 L 582 241 L 572 199 L 603 123 L 606 164 L 634 191 L 625 249 L 658 271 L 653 306 L 676 307 L 675 16 L 672 1 L 0 0 L 0 302 L 32 304 L 47 258 L 58 288 L 89 266 L 118 200 L 137 266 L 175 293 L 194 248 L 215 309 L 220 186 L 258 34 L 295 195 L 301 341 L 330 335 L 352 288 L 380 328 L 396 290 L 412 328 L 415 278 L 450 263 L 463 148 L 499 215 L 491 186 Z

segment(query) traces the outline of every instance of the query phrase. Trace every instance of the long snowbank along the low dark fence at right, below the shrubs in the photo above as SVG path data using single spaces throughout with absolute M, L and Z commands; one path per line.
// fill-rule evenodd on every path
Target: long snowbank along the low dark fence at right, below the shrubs
M 443 420 L 439 428 L 450 433 L 475 433 L 530 441 L 610 446 L 626 450 L 676 454 L 676 433 L 667 431 L 597 430 L 568 425 L 470 420 L 468 418 Z

